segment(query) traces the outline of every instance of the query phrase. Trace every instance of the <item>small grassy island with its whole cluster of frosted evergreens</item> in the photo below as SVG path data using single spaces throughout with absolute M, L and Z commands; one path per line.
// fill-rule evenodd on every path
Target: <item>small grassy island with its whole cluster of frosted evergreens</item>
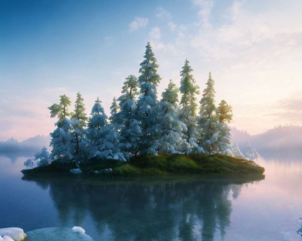
M 180 71 L 180 87 L 170 80 L 157 99 L 162 79 L 150 42 L 146 45 L 138 78 L 129 75 L 122 95 L 113 98 L 108 116 L 97 98 L 91 116 L 77 93 L 74 112 L 71 101 L 60 95 L 60 103 L 49 107 L 58 117 L 50 133 L 51 152 L 45 147 L 24 165 L 29 174 L 90 174 L 97 176 L 138 176 L 168 174 L 261 174 L 253 160 L 259 154 L 248 143 L 243 155 L 236 142 L 230 146 L 232 107 L 222 100 L 215 106 L 211 72 L 200 100 L 200 87 L 186 59 Z M 182 94 L 179 98 L 178 92 Z M 179 104 L 178 104 L 179 101 Z M 197 114 L 199 112 L 199 114 Z

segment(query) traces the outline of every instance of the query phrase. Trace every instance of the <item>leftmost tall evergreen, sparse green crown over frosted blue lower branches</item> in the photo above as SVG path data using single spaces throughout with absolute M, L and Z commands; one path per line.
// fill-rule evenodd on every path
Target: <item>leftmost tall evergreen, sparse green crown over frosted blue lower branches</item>
M 68 106 L 71 105 L 69 97 L 60 95 L 60 104 L 53 104 L 50 109 L 50 117 L 58 117 L 55 123 L 57 128 L 50 133 L 52 137 L 50 146 L 53 147 L 50 158 L 58 161 L 70 161 L 73 158 L 71 150 L 72 127 L 70 121 L 66 118 L 70 116 Z

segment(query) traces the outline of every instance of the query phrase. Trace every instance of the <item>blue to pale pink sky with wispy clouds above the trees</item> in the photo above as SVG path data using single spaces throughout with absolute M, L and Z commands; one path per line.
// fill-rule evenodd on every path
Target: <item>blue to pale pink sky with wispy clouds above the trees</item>
M 201 94 L 211 71 L 232 126 L 301 125 L 301 9 L 300 0 L 0 0 L 0 141 L 52 132 L 47 107 L 63 94 L 74 102 L 80 92 L 88 116 L 99 96 L 109 115 L 147 41 L 159 98 L 188 59 Z

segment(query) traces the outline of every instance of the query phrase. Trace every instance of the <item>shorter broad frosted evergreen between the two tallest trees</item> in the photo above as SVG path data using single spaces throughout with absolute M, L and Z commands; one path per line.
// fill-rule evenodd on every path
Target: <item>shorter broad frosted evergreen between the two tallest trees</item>
M 183 132 L 187 131 L 187 126 L 179 120 L 178 101 L 179 89 L 170 80 L 168 88 L 162 92 L 162 100 L 160 102 L 161 118 L 161 137 L 159 139 L 159 152 L 174 154 L 181 153 L 183 142 Z

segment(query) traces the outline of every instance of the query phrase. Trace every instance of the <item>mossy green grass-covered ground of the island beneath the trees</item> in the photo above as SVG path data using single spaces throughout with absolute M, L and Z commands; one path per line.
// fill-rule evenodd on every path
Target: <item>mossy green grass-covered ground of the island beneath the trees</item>
M 68 174 L 70 169 L 77 168 L 75 162 L 53 162 L 47 166 L 25 169 L 24 175 L 32 174 Z M 92 158 L 81 163 L 83 174 L 92 176 L 142 176 L 171 174 L 263 174 L 263 167 L 254 161 L 234 158 L 221 154 L 192 155 L 140 155 L 130 161 L 103 160 Z

